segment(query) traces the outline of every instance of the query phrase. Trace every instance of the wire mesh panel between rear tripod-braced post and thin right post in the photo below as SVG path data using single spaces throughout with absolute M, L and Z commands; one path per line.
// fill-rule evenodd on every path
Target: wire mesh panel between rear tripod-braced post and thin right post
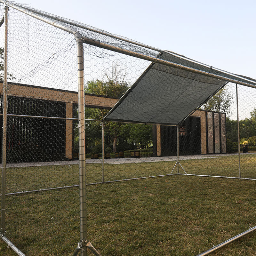
M 191 115 L 190 118 L 197 118 L 200 124 L 190 123 L 193 129 L 198 127 L 199 131 L 198 137 L 196 134 L 192 136 L 195 141 L 188 141 L 186 144 L 188 148 L 193 148 L 193 156 L 190 157 L 190 161 L 180 159 L 188 174 L 239 177 L 236 90 L 234 89 L 235 84 L 227 84 Z M 235 119 L 232 135 L 229 125 L 231 118 Z M 190 134 L 192 135 L 191 132 Z M 231 136 L 233 141 L 230 141 Z M 182 138 L 181 134 L 180 138 Z M 200 154 L 196 154 L 198 147 L 201 150 Z

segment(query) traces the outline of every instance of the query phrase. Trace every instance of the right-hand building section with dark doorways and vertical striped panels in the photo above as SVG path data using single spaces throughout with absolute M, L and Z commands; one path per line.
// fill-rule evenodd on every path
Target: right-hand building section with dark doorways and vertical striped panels
M 226 153 L 226 114 L 196 110 L 179 127 L 179 154 Z M 177 156 L 177 127 L 153 126 L 153 155 Z

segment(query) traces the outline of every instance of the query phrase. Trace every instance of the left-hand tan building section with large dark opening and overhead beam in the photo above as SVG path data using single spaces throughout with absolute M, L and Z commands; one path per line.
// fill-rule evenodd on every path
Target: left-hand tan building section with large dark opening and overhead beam
M 64 118 L 75 117 L 78 93 L 27 84 L 8 84 L 7 162 L 73 159 L 74 120 Z M 2 95 L 3 83 L 0 83 L 0 97 Z M 117 100 L 85 94 L 85 107 L 111 109 Z M 1 123 L 2 103 L 1 100 Z M 2 148 L 2 129 L 0 130 Z

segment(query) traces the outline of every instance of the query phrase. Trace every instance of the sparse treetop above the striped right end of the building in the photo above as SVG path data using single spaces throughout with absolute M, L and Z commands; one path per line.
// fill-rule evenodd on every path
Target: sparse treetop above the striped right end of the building
M 230 105 L 232 104 L 233 96 L 228 88 L 222 88 L 214 94 L 203 106 L 202 109 L 216 112 L 226 113 L 230 115 Z

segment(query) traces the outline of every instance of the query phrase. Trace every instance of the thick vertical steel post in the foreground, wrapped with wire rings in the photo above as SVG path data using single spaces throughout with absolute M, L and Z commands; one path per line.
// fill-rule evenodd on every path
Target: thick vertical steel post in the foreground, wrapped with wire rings
M 86 176 L 85 176 L 85 113 L 84 113 L 84 45 L 81 35 L 76 32 L 78 65 L 78 133 L 79 133 L 79 198 L 80 198 L 80 239 L 87 238 L 86 219 Z M 81 250 L 81 256 L 87 255 L 87 249 Z

